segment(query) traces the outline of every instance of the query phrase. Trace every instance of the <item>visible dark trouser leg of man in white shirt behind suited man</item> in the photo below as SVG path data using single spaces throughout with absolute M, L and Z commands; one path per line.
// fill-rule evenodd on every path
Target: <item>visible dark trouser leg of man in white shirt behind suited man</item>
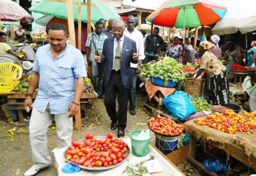
M 129 99 L 130 99 L 129 107 L 130 108 L 136 106 L 136 82 L 137 82 L 136 68 L 131 68 L 131 84 L 129 88 Z

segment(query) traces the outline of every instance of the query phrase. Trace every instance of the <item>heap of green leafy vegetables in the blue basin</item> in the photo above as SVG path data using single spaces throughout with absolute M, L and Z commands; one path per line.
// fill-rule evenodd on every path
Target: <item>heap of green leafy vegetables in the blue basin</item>
M 182 72 L 182 64 L 170 57 L 165 57 L 159 62 L 143 64 L 142 75 L 153 75 L 165 80 L 171 79 L 173 82 L 186 80 L 186 75 Z

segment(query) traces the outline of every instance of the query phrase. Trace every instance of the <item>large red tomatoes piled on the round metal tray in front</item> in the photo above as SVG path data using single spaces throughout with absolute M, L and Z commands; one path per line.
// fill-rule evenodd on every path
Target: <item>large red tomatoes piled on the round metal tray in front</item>
M 107 138 L 100 139 L 87 134 L 83 142 L 72 142 L 66 150 L 65 158 L 72 163 L 92 168 L 116 165 L 127 157 L 127 151 L 127 143 L 114 138 L 112 133 L 108 133 Z

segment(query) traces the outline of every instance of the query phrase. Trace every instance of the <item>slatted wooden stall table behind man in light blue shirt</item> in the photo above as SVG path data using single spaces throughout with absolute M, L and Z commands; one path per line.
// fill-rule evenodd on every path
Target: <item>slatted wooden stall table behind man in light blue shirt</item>
M 10 108 L 12 110 L 17 110 L 18 115 L 19 115 L 19 120 L 20 122 L 24 122 L 23 119 L 23 103 L 24 100 L 26 99 L 25 92 L 10 92 L 7 94 L 7 99 L 8 99 L 8 104 L 10 105 Z M 34 93 L 32 99 L 34 100 L 37 96 L 37 93 Z M 80 104 L 81 104 L 81 109 L 85 107 L 87 104 L 92 104 L 94 102 L 94 94 L 89 93 L 89 92 L 83 92 Z M 76 117 L 76 127 L 81 129 L 81 118 L 78 119 Z

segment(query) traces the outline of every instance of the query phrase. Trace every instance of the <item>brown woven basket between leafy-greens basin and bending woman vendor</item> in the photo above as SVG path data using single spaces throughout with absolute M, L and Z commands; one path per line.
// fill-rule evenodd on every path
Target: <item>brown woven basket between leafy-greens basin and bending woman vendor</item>
M 187 78 L 185 81 L 185 91 L 187 94 L 198 97 L 202 95 L 202 84 L 204 84 L 205 79 Z

